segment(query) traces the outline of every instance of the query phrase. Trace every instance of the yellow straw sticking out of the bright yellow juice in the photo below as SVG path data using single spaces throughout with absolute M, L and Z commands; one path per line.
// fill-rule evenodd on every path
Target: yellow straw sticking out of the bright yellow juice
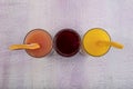
M 123 44 L 121 44 L 121 43 L 119 43 L 119 42 L 114 42 L 114 41 L 111 41 L 111 42 L 109 42 L 109 41 L 99 41 L 98 42 L 100 46 L 103 46 L 103 44 L 110 44 L 110 46 L 112 46 L 112 47 L 115 47 L 115 48 L 117 48 L 117 49 L 123 49 L 124 48 L 124 46 Z

